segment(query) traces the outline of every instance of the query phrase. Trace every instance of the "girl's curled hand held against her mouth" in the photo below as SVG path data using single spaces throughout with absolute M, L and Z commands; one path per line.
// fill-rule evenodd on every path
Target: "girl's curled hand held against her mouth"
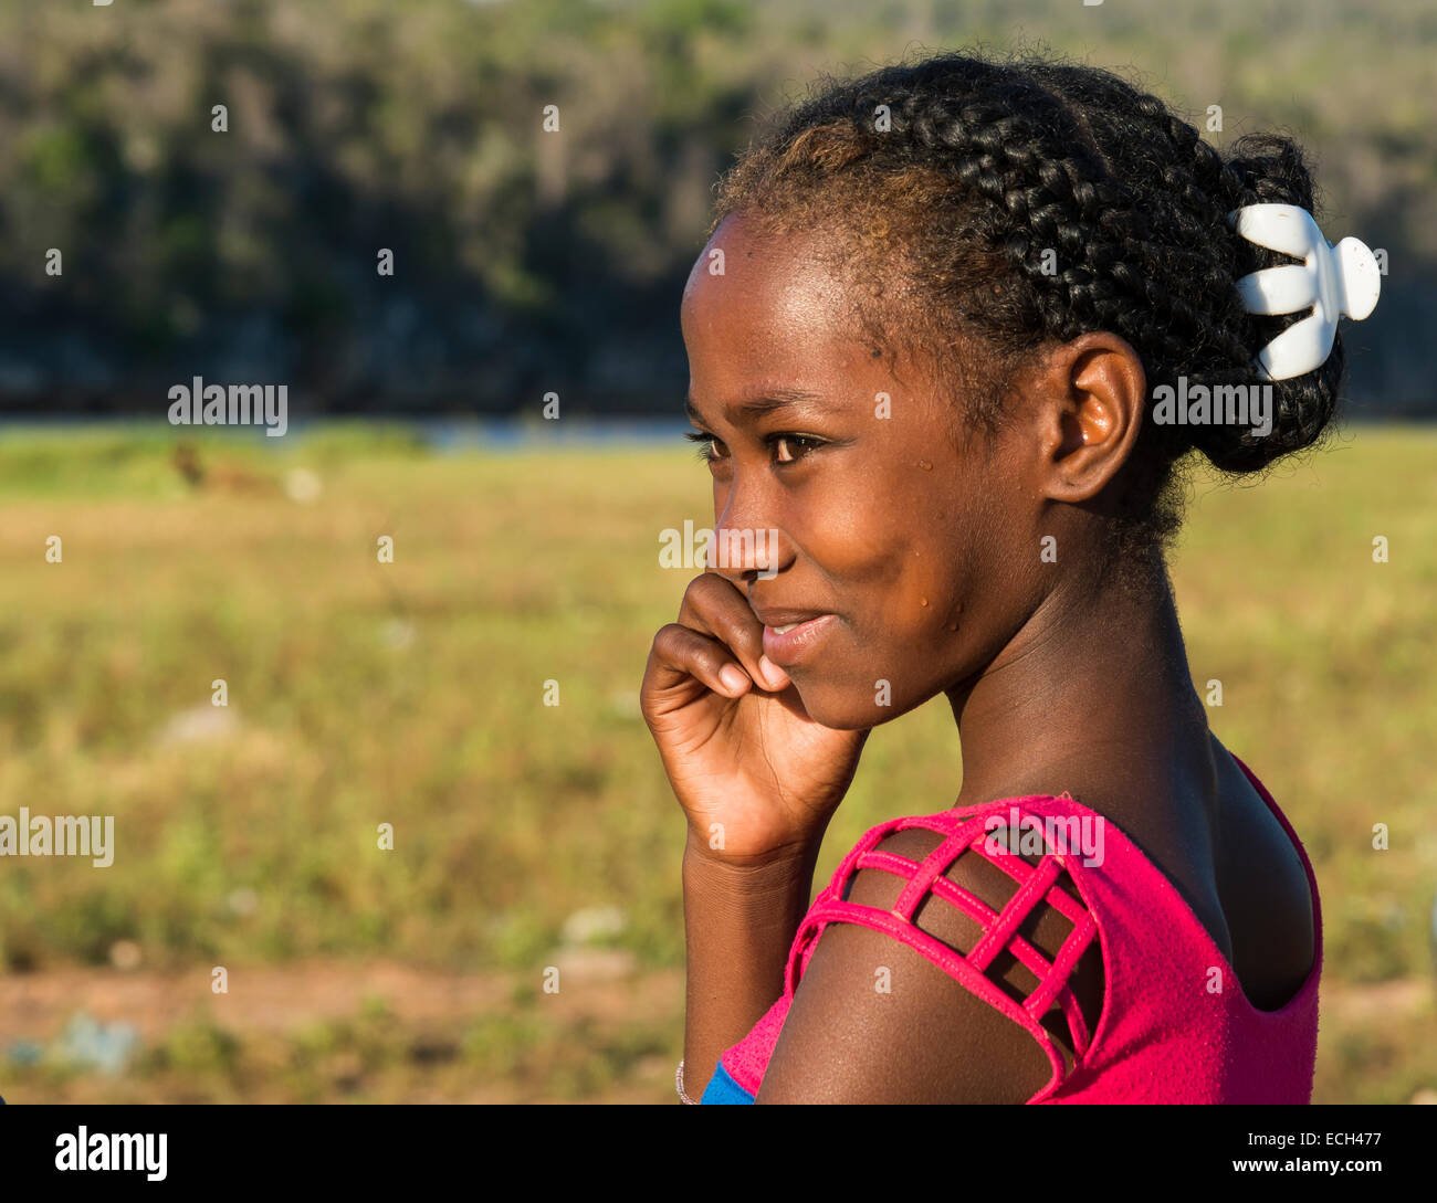
M 691 846 L 736 864 L 816 846 L 868 739 L 808 716 L 787 673 L 763 657 L 763 623 L 711 571 L 654 636 L 639 705 Z

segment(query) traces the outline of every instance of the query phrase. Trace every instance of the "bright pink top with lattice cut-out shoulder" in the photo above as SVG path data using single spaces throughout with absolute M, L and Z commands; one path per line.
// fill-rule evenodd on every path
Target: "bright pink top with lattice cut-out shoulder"
M 718 1069 L 747 1095 L 733 1101 L 747 1103 L 757 1095 L 793 991 L 823 927 L 861 923 L 917 949 L 1032 1034 L 1048 1054 L 1053 1075 L 1029 1103 L 1311 1103 L 1322 975 L 1318 881 L 1286 815 L 1252 769 L 1242 761 L 1237 764 L 1296 847 L 1312 889 L 1312 969 L 1286 1006 L 1259 1011 L 1247 1001 L 1232 965 L 1193 909 L 1115 824 L 1101 820 L 1102 863 L 1086 866 L 1072 824 L 1083 815 L 1098 820 L 1095 811 L 1068 797 L 1003 798 L 923 818 L 888 820 L 858 841 L 799 926 L 783 996 L 718 1062 Z M 984 848 L 983 820 L 996 814 L 1012 823 L 1013 811 L 1020 828 L 1030 827 L 1035 818 L 1042 823 L 1046 817 L 1066 817 L 1075 833 L 1068 851 L 1045 840 L 1043 857 L 1035 867 L 1002 847 Z M 890 833 L 910 827 L 924 827 L 947 838 L 921 864 L 872 851 Z M 943 876 L 958 854 L 967 853 L 983 856 L 1017 880 L 1019 889 L 1002 913 Z M 907 879 L 892 912 L 842 900 L 846 879 L 856 869 L 884 869 Z M 1053 884 L 1065 869 L 1081 903 Z M 912 925 L 912 914 L 930 890 L 983 926 L 983 937 L 967 955 Z M 1027 913 L 1042 902 L 1073 923 L 1052 963 L 1016 935 Z M 1089 1038 L 1068 976 L 1094 937 L 1102 949 L 1105 986 L 1098 1028 Z M 1022 1003 L 983 973 L 1004 947 L 1040 982 Z M 1221 970 L 1220 978 L 1214 969 Z M 1053 1003 L 1062 1008 L 1075 1042 L 1076 1059 L 1066 1072 L 1052 1036 L 1038 1022 Z M 723 1085 L 731 1091 L 729 1082 Z

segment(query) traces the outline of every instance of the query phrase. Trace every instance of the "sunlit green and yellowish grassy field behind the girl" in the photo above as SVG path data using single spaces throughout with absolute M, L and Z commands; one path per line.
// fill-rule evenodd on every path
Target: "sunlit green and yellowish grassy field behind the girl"
M 0 1094 L 671 1100 L 684 825 L 637 691 L 690 576 L 658 531 L 711 523 L 707 474 L 678 446 L 440 455 L 355 426 L 200 441 L 193 490 L 174 442 L 0 438 L 0 815 L 112 814 L 116 841 L 109 869 L 0 861 Z M 1253 488 L 1200 478 L 1174 560 L 1213 728 L 1322 886 L 1319 1101 L 1437 1088 L 1434 458 L 1437 432 L 1357 428 Z M 819 884 L 957 788 L 943 699 L 875 731 Z M 555 963 L 592 1006 L 542 993 Z M 250 1022 L 316 965 L 331 1005 Z M 65 999 L 145 975 L 174 1022 L 128 1068 L 55 1052 Z M 72 985 L 6 1011 L 46 980 Z M 427 1011 L 435 982 L 473 991 Z

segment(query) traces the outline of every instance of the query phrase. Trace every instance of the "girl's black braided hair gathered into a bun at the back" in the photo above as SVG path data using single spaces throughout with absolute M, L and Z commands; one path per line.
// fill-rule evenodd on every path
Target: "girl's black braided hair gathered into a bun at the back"
M 1180 525 L 1174 468 L 1188 452 L 1255 472 L 1331 426 L 1341 336 L 1305 376 L 1266 382 L 1253 366 L 1300 317 L 1250 314 L 1237 293 L 1247 271 L 1290 261 L 1227 223 L 1267 201 L 1313 211 L 1288 138 L 1247 135 L 1224 156 L 1111 72 L 943 53 L 822 80 L 780 112 L 720 181 L 708 233 L 736 211 L 770 234 L 844 231 L 829 254 L 855 286 L 858 320 L 877 342 L 937 355 L 958 412 L 989 432 L 1033 350 L 1088 330 L 1132 345 L 1150 396 L 1180 376 L 1188 388 L 1272 383 L 1265 436 L 1142 422 L 1112 521 L 1119 557 L 1150 558 Z M 967 355 L 947 356 L 954 346 Z

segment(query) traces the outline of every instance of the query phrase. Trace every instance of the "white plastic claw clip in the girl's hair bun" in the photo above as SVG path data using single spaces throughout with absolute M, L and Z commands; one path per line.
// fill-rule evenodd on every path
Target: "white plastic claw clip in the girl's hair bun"
M 1249 243 L 1290 254 L 1303 263 L 1265 267 L 1237 281 L 1249 313 L 1312 313 L 1295 322 L 1257 353 L 1257 370 L 1286 380 L 1318 368 L 1331 353 L 1338 317 L 1361 322 L 1377 306 L 1382 273 L 1367 244 L 1344 238 L 1335 247 L 1312 214 L 1298 205 L 1246 205 L 1227 220 Z

